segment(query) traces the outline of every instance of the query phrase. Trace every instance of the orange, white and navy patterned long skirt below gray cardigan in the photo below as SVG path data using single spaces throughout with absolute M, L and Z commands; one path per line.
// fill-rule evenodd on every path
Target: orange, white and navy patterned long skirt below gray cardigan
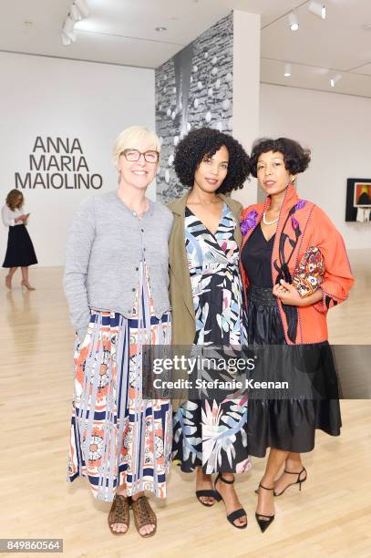
M 98 500 L 112 501 L 123 483 L 128 496 L 166 497 L 171 405 L 142 399 L 141 346 L 170 344 L 170 313 L 154 315 L 145 263 L 139 277 L 132 317 L 92 310 L 74 356 L 67 480 L 88 477 Z

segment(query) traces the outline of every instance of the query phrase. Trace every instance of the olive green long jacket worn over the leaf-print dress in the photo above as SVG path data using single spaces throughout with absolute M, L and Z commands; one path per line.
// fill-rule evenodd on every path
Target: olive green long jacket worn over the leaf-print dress
M 240 214 L 242 204 L 229 196 L 219 196 L 231 209 L 237 223 L 234 239 L 240 246 Z M 188 268 L 184 235 L 184 213 L 188 192 L 179 200 L 168 205 L 173 214 L 173 223 L 169 240 L 170 257 L 170 304 L 171 304 L 171 339 L 172 345 L 190 347 L 196 335 L 195 315 L 191 292 L 191 278 Z M 178 401 L 180 403 L 181 401 Z M 173 407 L 177 407 L 173 401 Z

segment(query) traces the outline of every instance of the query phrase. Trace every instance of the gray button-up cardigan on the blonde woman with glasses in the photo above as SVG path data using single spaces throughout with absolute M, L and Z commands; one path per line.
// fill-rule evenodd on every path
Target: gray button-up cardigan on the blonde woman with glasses
M 149 202 L 139 220 L 116 191 L 88 198 L 71 223 L 64 286 L 71 322 L 80 341 L 88 330 L 90 308 L 129 318 L 139 284 L 142 254 L 149 271 L 154 312 L 170 310 L 168 239 L 171 212 Z

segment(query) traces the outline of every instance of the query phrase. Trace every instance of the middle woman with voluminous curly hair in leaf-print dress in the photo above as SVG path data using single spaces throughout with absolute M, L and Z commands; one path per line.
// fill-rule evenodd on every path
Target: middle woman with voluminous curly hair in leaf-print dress
M 240 346 L 243 341 L 239 216 L 228 195 L 241 189 L 249 158 L 240 143 L 217 129 L 191 131 L 180 141 L 175 171 L 190 191 L 169 205 L 172 343 L 176 346 Z M 173 459 L 196 469 L 196 496 L 211 506 L 223 500 L 234 527 L 247 525 L 234 491 L 234 472 L 250 467 L 246 402 L 186 401 L 174 415 Z M 214 490 L 211 473 L 217 472 Z

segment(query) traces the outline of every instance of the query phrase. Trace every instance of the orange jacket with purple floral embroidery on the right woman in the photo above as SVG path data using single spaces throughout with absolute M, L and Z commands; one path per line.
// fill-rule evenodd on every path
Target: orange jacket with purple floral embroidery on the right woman
M 250 205 L 242 210 L 242 247 L 258 225 L 269 205 L 268 196 L 264 203 Z M 313 202 L 300 200 L 293 184 L 285 191 L 278 219 L 272 253 L 273 284 L 284 279 L 292 283 L 294 271 L 304 253 L 310 247 L 321 251 L 325 263 L 325 275 L 319 288 L 322 301 L 310 306 L 283 305 L 277 299 L 283 323 L 284 335 L 289 345 L 320 343 L 327 339 L 327 310 L 343 302 L 354 284 L 347 258 L 345 243 L 334 224 Z M 240 263 L 244 294 L 249 281 Z

